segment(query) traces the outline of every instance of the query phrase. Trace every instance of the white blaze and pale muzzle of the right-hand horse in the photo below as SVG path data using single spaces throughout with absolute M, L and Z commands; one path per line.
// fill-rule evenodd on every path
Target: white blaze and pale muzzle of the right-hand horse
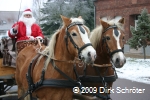
M 121 44 L 120 44 L 120 38 L 121 37 L 121 32 L 118 31 L 118 36 L 115 34 L 115 31 L 113 30 L 113 36 L 116 39 L 116 44 L 117 44 L 117 49 L 122 49 Z M 122 41 L 122 40 L 121 40 Z M 123 67 L 123 65 L 126 63 L 126 58 L 123 54 L 123 52 L 117 52 L 113 55 L 112 60 L 117 68 Z

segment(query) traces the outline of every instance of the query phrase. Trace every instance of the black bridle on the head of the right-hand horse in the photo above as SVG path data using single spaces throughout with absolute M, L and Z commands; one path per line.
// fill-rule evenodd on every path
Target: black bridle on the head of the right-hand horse
M 108 31 L 109 29 L 114 29 L 114 32 L 115 32 L 115 35 L 116 36 L 118 36 L 118 31 L 117 31 L 117 26 L 116 25 L 112 25 L 112 26 L 109 26 L 108 28 L 106 28 L 104 31 L 103 31 L 103 34 L 106 32 L 106 31 Z M 106 42 L 106 37 L 103 35 L 103 37 L 102 37 L 102 41 L 103 41 L 103 43 L 105 43 L 106 44 L 106 48 L 108 49 L 108 53 L 109 53 L 109 55 L 110 55 L 110 57 L 112 58 L 112 55 L 113 54 L 115 54 L 115 53 L 117 53 L 117 52 L 123 52 L 124 53 L 124 47 L 122 48 L 122 49 L 117 49 L 117 50 L 114 50 L 114 51 L 110 51 L 110 48 L 108 47 L 108 44 L 107 44 L 107 42 Z

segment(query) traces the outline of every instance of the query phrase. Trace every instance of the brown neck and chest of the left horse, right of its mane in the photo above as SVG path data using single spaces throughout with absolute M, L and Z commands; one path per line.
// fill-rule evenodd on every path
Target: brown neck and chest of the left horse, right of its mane
M 67 47 L 66 47 L 66 43 L 64 40 L 64 33 L 60 33 L 61 36 L 58 35 L 57 37 L 57 42 L 55 45 L 55 59 L 57 59 L 55 61 L 56 66 L 62 71 L 64 72 L 66 75 L 70 76 L 71 78 L 74 77 L 74 72 L 73 72 L 73 64 L 68 63 L 68 61 L 73 60 L 72 55 L 69 54 Z M 61 74 L 57 74 L 57 76 L 54 76 L 56 78 L 62 78 L 63 76 Z

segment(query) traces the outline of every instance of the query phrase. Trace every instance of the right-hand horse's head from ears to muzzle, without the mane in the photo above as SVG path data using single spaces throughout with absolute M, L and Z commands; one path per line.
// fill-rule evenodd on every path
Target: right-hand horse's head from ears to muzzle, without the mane
M 121 68 L 126 62 L 123 51 L 125 43 L 123 32 L 124 18 L 117 23 L 114 23 L 114 21 L 105 22 L 100 19 L 100 23 L 103 27 L 102 42 L 106 45 L 113 64 L 117 68 Z

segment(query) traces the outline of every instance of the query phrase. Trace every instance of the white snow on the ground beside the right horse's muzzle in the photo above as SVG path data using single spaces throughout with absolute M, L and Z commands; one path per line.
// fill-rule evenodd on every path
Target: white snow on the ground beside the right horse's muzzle
M 116 72 L 119 78 L 150 84 L 150 59 L 127 57 L 126 64 Z

